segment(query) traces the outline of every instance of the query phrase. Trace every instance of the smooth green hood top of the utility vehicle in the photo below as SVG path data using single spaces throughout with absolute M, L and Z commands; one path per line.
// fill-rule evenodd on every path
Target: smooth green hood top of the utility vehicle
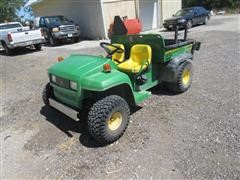
M 112 67 L 115 64 L 107 58 L 89 55 L 71 55 L 64 61 L 56 63 L 48 69 L 48 73 L 56 76 L 78 81 L 89 74 L 101 72 L 103 65 L 109 63 Z

